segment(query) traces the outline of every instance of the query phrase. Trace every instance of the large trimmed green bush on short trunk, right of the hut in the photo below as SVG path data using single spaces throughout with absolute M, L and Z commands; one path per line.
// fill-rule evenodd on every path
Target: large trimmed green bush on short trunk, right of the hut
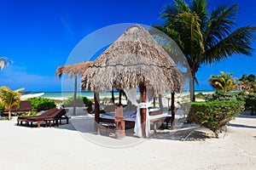
M 214 100 L 193 102 L 188 115 L 189 122 L 207 127 L 218 138 L 221 127 L 224 127 L 244 109 L 243 101 Z

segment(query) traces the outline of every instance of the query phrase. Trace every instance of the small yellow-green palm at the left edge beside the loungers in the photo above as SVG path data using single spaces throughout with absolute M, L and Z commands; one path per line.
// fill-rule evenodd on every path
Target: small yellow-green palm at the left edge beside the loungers
M 22 90 L 24 90 L 24 88 L 20 88 L 15 91 L 12 91 L 10 88 L 4 86 L 0 88 L 0 99 L 2 100 L 2 103 L 5 106 L 5 109 L 9 110 L 9 120 L 11 118 L 10 110 L 12 106 L 17 105 L 18 101 L 20 101 L 20 92 Z

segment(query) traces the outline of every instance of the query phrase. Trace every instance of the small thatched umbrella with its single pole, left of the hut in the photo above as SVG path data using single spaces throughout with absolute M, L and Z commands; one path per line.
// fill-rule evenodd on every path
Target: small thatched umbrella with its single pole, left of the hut
M 58 67 L 55 77 L 61 77 L 63 74 L 67 74 L 69 77 L 75 77 L 74 80 L 74 103 L 73 103 L 73 115 L 76 115 L 76 99 L 77 99 L 77 77 L 86 71 L 93 61 L 84 61 L 78 64 L 65 65 Z

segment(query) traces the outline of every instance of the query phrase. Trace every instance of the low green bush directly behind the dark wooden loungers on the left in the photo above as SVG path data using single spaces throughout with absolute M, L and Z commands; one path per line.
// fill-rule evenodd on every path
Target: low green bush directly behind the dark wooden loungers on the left
M 38 111 L 46 111 L 56 107 L 55 101 L 47 98 L 31 98 L 27 100 L 31 101 L 32 109 Z

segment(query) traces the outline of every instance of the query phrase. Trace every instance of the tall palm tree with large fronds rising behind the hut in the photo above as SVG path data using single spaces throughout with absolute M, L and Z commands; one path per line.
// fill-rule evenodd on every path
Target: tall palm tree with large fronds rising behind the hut
M 211 13 L 207 10 L 207 0 L 192 0 L 189 4 L 174 0 L 174 3 L 166 5 L 160 14 L 164 25 L 154 27 L 177 42 L 188 60 L 190 100 L 195 101 L 195 74 L 201 65 L 211 65 L 233 54 L 251 55 L 253 48 L 250 44 L 255 39 L 256 27 L 244 26 L 233 30 L 237 4 L 230 7 L 219 5 Z

